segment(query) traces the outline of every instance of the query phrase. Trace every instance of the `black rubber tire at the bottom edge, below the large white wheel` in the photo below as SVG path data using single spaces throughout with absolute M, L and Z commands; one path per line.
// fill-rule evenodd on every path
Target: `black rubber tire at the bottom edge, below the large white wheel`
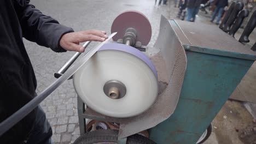
M 118 130 L 95 130 L 79 136 L 74 144 L 93 144 L 93 143 L 118 143 Z M 127 137 L 127 144 L 156 144 L 142 135 L 131 135 Z

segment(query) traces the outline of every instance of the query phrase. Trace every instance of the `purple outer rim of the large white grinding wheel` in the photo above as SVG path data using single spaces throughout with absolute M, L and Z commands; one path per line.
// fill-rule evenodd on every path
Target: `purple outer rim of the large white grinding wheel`
M 156 71 L 153 62 L 150 61 L 150 59 L 146 55 L 144 55 L 144 53 L 135 49 L 134 47 L 129 45 L 124 45 L 124 44 L 112 43 L 112 44 L 104 44 L 98 51 L 104 51 L 104 50 L 123 51 L 123 52 L 130 53 L 133 56 L 136 56 L 137 58 L 141 59 L 143 62 L 145 62 L 148 65 L 148 67 L 153 71 L 156 79 L 158 80 L 158 72 Z

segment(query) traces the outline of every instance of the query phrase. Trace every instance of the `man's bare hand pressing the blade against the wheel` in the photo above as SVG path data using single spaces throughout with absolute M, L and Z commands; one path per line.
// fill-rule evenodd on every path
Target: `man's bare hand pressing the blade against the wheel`
M 84 52 L 84 47 L 79 45 L 79 43 L 83 43 L 84 41 L 104 41 L 107 38 L 106 32 L 94 29 L 66 33 L 61 37 L 60 46 L 67 51 Z

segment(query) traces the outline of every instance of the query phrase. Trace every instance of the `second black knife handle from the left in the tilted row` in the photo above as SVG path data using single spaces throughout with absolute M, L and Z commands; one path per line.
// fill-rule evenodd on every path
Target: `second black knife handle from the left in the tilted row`
M 224 32 L 229 32 L 231 25 L 234 23 L 236 20 L 237 14 L 239 13 L 240 10 L 243 9 L 243 3 L 239 2 L 236 3 L 235 8 L 232 10 L 232 13 L 228 19 L 228 21 L 225 24 L 225 27 L 223 28 Z

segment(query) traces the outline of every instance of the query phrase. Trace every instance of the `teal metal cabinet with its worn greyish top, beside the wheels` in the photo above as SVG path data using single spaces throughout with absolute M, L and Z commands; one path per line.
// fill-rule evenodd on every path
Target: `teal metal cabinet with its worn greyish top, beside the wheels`
M 238 41 L 230 35 L 223 37 L 224 32 L 218 28 L 219 32 L 215 32 L 210 26 L 177 23 L 191 43 L 188 45 L 185 40 L 184 44 L 179 39 L 186 49 L 188 64 L 176 110 L 170 118 L 151 129 L 150 139 L 157 143 L 196 143 L 253 64 L 254 61 L 246 58 L 255 58 L 250 51 L 240 49 Z M 176 34 L 175 37 L 184 38 L 178 35 L 180 32 Z M 216 34 L 215 38 L 211 34 Z M 223 56 L 227 52 L 229 56 Z

